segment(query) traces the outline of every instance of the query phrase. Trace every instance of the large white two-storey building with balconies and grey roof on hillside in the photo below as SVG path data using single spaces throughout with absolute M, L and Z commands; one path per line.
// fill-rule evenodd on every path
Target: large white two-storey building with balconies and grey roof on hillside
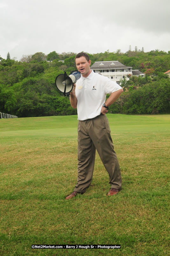
M 128 81 L 128 75 L 132 76 L 132 67 L 127 67 L 119 61 L 96 61 L 90 68 L 95 73 L 107 76 L 118 84 L 120 84 L 120 79 L 126 78 Z

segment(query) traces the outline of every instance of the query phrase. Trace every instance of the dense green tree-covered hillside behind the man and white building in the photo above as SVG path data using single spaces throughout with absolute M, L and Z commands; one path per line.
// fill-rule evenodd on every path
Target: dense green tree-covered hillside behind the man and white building
M 89 53 L 88 53 L 89 54 Z M 74 115 L 77 111 L 55 86 L 55 78 L 64 71 L 76 69 L 76 53 L 23 55 L 21 60 L 0 57 L 0 112 L 18 117 Z M 109 108 L 110 113 L 157 114 L 170 112 L 170 79 L 164 72 L 170 69 L 170 51 L 143 50 L 121 53 L 106 51 L 89 54 L 95 61 L 118 60 L 145 73 L 122 80 L 124 92 Z M 50 62 L 46 61 L 49 60 Z M 152 76 L 154 74 L 154 76 Z

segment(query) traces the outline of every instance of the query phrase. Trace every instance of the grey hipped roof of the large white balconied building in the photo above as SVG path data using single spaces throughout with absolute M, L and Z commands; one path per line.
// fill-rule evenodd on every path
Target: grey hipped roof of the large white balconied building
M 96 61 L 91 67 L 91 69 L 117 69 L 117 68 L 132 68 L 123 65 L 119 61 Z

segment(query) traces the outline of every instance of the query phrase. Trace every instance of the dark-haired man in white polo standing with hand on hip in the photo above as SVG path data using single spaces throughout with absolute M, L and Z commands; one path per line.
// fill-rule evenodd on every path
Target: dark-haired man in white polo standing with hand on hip
M 91 60 L 87 53 L 78 53 L 75 63 L 81 78 L 70 92 L 70 103 L 73 108 L 77 108 L 79 120 L 78 178 L 74 192 L 66 199 L 85 193 L 90 186 L 96 150 L 109 174 L 111 189 L 108 196 L 116 195 L 121 189 L 122 178 L 105 114 L 123 89 L 109 78 L 94 73 L 90 69 Z M 107 100 L 106 94 L 110 94 Z

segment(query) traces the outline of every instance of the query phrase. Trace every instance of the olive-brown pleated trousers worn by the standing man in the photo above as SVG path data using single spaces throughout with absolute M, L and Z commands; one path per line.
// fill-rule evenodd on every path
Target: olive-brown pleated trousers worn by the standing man
M 101 114 L 78 123 L 78 178 L 74 191 L 84 193 L 89 188 L 96 150 L 109 174 L 111 188 L 121 189 L 122 178 L 109 122 L 106 115 Z

